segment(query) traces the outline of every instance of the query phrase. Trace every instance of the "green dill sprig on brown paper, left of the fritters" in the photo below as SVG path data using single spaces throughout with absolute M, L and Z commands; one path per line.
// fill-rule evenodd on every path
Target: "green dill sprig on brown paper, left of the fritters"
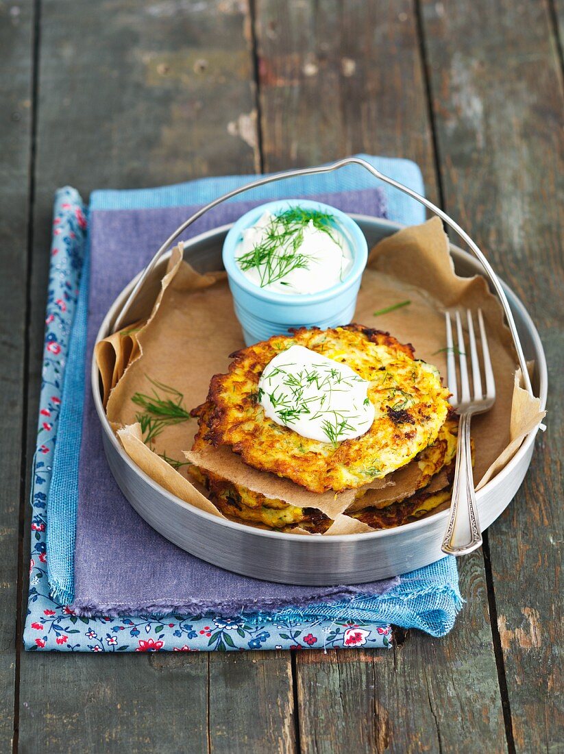
M 138 412 L 135 418 L 141 425 L 143 442 L 149 444 L 161 434 L 165 427 L 188 421 L 190 412 L 182 405 L 184 396 L 180 391 L 152 379 L 149 375 L 146 377 L 154 386 L 152 393 L 136 393 L 131 400 L 143 409 L 143 412 Z

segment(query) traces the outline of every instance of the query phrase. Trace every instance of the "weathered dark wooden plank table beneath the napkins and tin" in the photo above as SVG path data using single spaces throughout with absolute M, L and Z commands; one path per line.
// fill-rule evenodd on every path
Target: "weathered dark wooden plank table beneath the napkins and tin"
M 559 29 L 561 0 L 0 0 L 2 751 L 564 750 Z M 398 631 L 389 652 L 26 654 L 54 190 L 354 152 L 421 165 L 547 351 L 548 431 L 460 562 L 455 629 Z

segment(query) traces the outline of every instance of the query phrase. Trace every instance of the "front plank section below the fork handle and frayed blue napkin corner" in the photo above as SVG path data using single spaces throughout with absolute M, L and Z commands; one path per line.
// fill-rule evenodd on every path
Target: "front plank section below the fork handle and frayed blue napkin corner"
M 393 652 L 298 657 L 305 752 L 501 752 L 503 719 L 481 553 L 461 562 L 467 599 L 446 639 L 408 633 Z

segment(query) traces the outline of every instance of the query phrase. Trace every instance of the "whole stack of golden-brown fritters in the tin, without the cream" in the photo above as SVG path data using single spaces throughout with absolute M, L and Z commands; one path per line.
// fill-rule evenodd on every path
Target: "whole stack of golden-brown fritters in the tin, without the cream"
M 344 363 L 369 382 L 375 408 L 361 437 L 340 443 L 311 440 L 265 415 L 258 399 L 265 366 L 291 345 Z M 193 451 L 228 446 L 245 464 L 291 480 L 312 493 L 354 490 L 348 509 L 373 529 L 415 520 L 449 499 L 457 422 L 437 369 L 415 360 L 411 345 L 360 325 L 298 329 L 232 354 L 227 374 L 214 375 L 205 403 L 192 411 L 199 430 Z M 415 467 L 416 464 L 416 467 Z M 314 507 L 267 498 L 198 466 L 189 473 L 225 516 L 254 526 L 323 533 L 331 519 Z M 415 480 L 406 496 L 399 474 Z M 382 486 L 382 481 L 397 486 Z M 403 495 L 403 497 L 402 497 Z

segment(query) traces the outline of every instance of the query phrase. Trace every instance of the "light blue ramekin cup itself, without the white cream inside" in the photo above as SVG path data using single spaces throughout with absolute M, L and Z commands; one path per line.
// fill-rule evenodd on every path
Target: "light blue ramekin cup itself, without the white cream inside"
M 318 293 L 277 293 L 253 284 L 239 268 L 235 249 L 241 241 L 241 233 L 255 225 L 265 212 L 280 214 L 289 207 L 304 207 L 333 215 L 339 231 L 351 247 L 352 265 L 344 280 Z M 233 296 L 235 314 L 243 328 L 247 345 L 267 340 L 273 335 L 284 335 L 290 327 L 313 327 L 321 329 L 346 325 L 351 322 L 357 305 L 360 279 L 366 260 L 368 246 L 363 232 L 348 215 L 305 199 L 284 199 L 261 204 L 238 219 L 228 231 L 223 243 L 223 265 L 227 271 L 229 288 Z

